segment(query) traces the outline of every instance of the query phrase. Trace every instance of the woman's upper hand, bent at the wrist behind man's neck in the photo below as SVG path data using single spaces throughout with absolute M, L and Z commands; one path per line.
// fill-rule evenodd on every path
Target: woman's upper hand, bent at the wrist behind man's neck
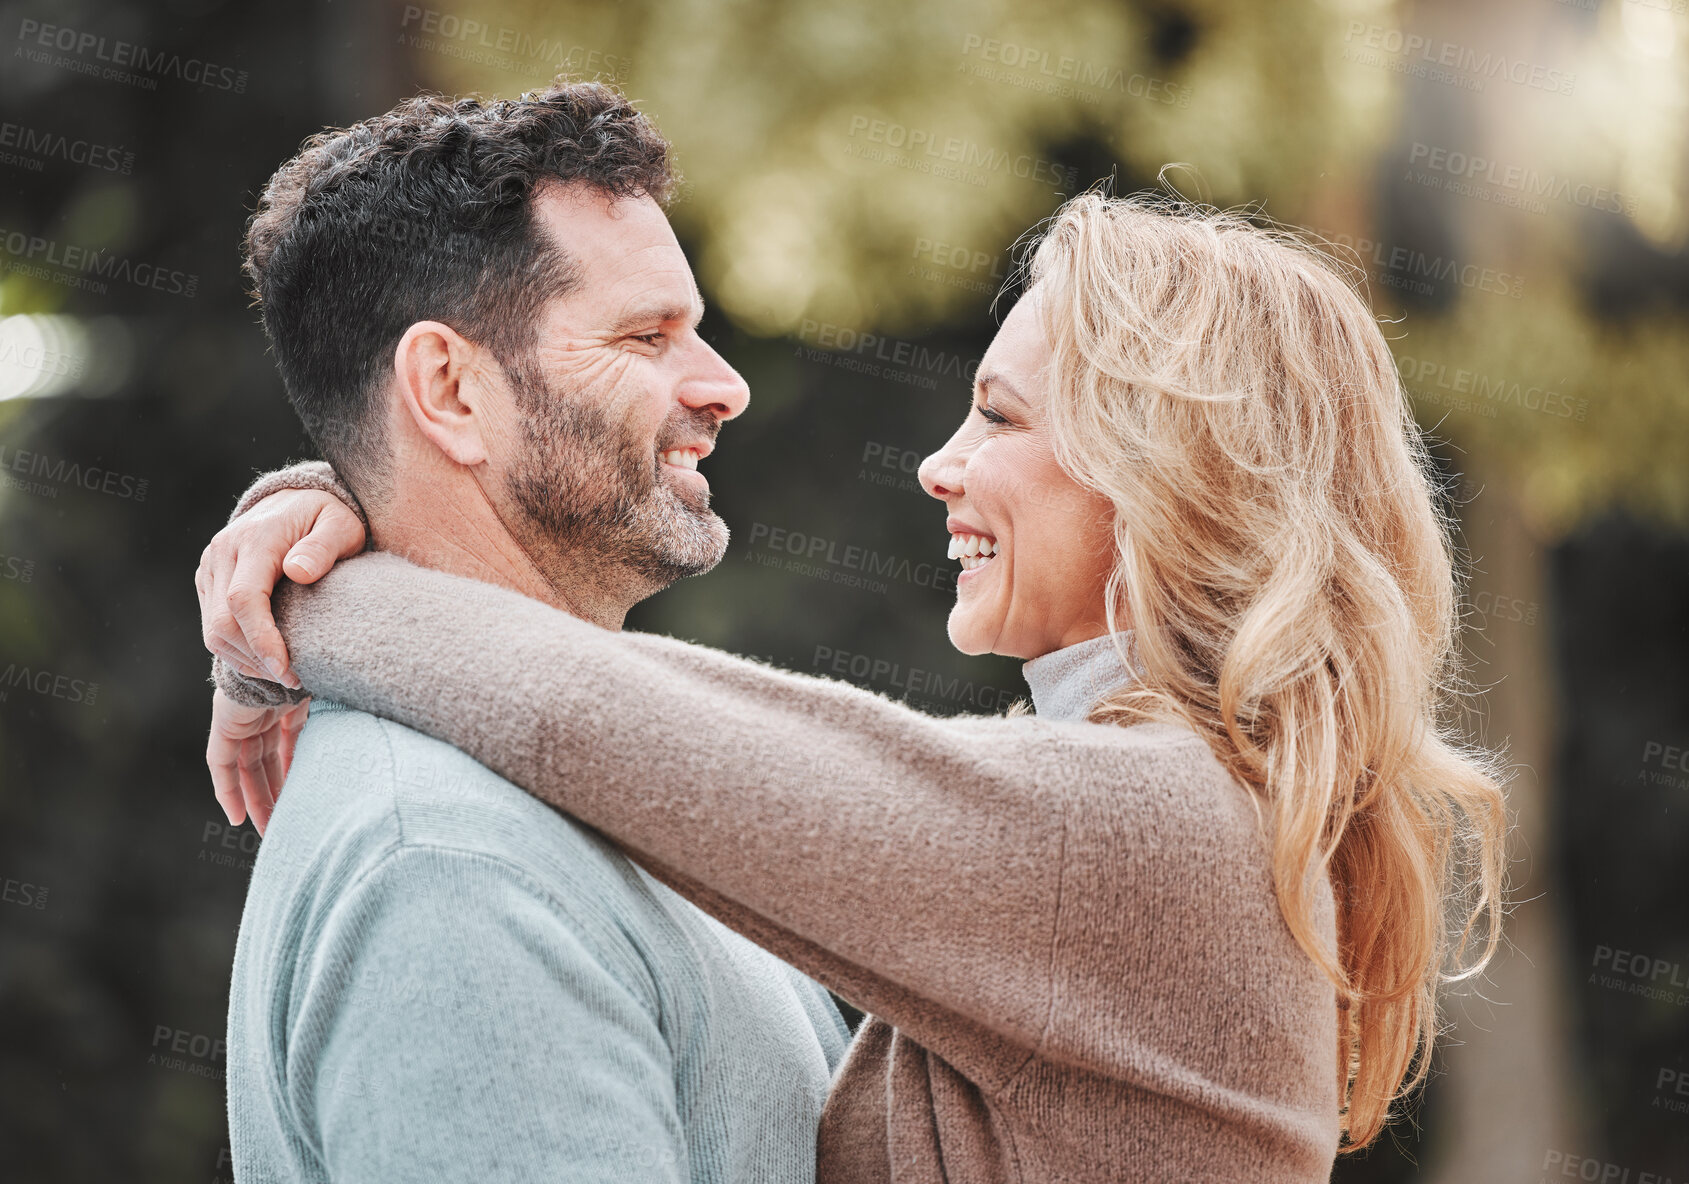
M 296 584 L 321 579 L 339 559 L 363 551 L 363 539 L 358 515 L 321 490 L 282 490 L 258 502 L 199 556 L 194 588 L 206 649 L 247 677 L 297 689 L 270 615 L 270 591 L 282 576 Z

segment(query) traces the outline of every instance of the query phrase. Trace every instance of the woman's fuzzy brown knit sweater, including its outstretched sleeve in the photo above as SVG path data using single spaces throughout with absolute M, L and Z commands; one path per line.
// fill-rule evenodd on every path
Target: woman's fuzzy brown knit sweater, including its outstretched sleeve
M 451 741 L 873 1015 L 824 1184 L 1329 1177 L 1334 991 L 1194 733 L 937 720 L 385 554 L 275 608 L 312 692 Z M 1329 885 L 1316 922 L 1333 948 Z

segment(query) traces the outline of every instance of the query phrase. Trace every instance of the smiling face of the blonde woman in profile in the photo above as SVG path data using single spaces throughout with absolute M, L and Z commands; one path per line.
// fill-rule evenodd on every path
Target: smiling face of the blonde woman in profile
M 973 405 L 921 464 L 949 510 L 963 573 L 949 616 L 963 654 L 1034 659 L 1106 632 L 1113 508 L 1056 464 L 1045 419 L 1051 345 L 1032 289 L 980 360 Z

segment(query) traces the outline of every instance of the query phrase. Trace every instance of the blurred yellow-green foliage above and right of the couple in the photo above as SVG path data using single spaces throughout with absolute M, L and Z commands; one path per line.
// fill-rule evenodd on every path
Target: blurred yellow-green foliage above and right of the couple
M 1684 171 L 1637 157 L 1682 138 L 1684 54 L 1638 49 L 1638 35 L 1648 46 L 1662 34 L 1637 34 L 1635 7 L 1608 5 L 1581 30 L 1562 22 L 1571 32 L 1559 41 L 1525 39 L 1542 54 L 1559 46 L 1576 66 L 1576 103 L 1520 98 L 1495 79 L 1473 101 L 1502 122 L 1488 133 L 1510 159 L 1628 187 L 1628 216 L 1647 236 L 1681 238 Z M 704 289 L 738 328 L 777 336 L 806 323 L 976 329 L 981 301 L 922 275 L 917 245 L 978 252 L 993 260 L 986 274 L 1003 275 L 1003 252 L 1024 231 L 1108 172 L 1130 182 L 1184 164 L 1169 172 L 1184 196 L 1333 236 L 1375 233 L 1410 79 L 1360 57 L 1371 30 L 1414 17 L 1388 0 L 473 0 L 407 29 L 427 39 L 419 68 L 446 91 L 530 86 L 546 47 L 623 86 L 677 149 L 686 187 L 672 218 Z M 470 22 L 480 30 L 466 32 Z M 1427 101 L 1442 98 L 1432 90 Z M 1091 176 L 1067 164 L 1064 149 L 1079 144 L 1093 149 L 1079 159 L 1110 167 Z M 1432 306 L 1373 285 L 1398 353 L 1436 361 L 1449 383 L 1456 372 L 1483 378 L 1483 394 L 1463 400 L 1409 375 L 1420 421 L 1481 451 L 1549 534 L 1611 505 L 1686 520 L 1686 466 L 1674 459 L 1689 432 L 1681 312 L 1615 326 L 1562 282 L 1586 263 L 1586 208 L 1503 208 L 1505 233 L 1491 238 L 1498 211 L 1485 201 L 1424 199 L 1441 199 L 1456 240 L 1476 238 L 1549 282 L 1529 299 L 1458 289 Z M 1534 387 L 1581 402 L 1581 415 L 1527 407 Z

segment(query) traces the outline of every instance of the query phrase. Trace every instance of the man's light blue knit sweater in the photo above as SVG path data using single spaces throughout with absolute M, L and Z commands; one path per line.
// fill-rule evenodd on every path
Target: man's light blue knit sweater
M 596 833 L 312 704 L 235 951 L 242 1184 L 806 1184 L 846 1040 Z

